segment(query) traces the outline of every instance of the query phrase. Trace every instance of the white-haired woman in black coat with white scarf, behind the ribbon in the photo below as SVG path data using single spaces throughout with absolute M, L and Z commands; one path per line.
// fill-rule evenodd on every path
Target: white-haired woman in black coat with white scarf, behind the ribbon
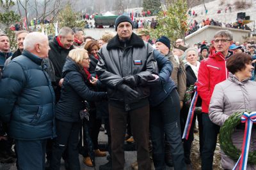
M 184 53 L 186 60 L 185 69 L 186 69 L 186 87 L 190 87 L 191 85 L 194 85 L 197 80 L 198 75 L 198 69 L 200 66 L 200 62 L 198 62 L 198 52 L 195 48 L 188 48 L 186 52 Z M 194 94 L 192 94 L 191 98 L 193 98 Z M 196 106 L 201 106 L 202 99 L 198 96 Z M 180 111 L 180 124 L 181 124 L 181 130 L 182 133 L 184 131 L 184 127 L 186 125 L 186 120 L 188 118 L 188 112 L 189 112 L 189 106 L 186 106 L 186 104 L 183 105 L 182 110 Z M 200 153 L 202 152 L 202 115 L 198 115 L 194 113 L 193 122 L 191 125 L 191 129 L 189 131 L 189 137 L 188 140 L 184 139 L 183 146 L 184 146 L 184 155 L 185 155 L 185 162 L 186 164 L 190 164 L 190 153 L 191 153 L 191 145 L 194 140 L 194 127 L 196 122 L 196 116 L 198 119 L 198 126 L 199 126 L 199 132 L 200 132 Z M 200 154 L 201 155 L 201 154 Z

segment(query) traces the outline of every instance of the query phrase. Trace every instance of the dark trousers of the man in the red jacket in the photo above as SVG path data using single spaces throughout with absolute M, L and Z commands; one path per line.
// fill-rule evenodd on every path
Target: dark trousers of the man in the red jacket
M 211 122 L 208 113 L 202 113 L 202 123 L 204 139 L 204 146 L 202 150 L 202 170 L 211 170 L 220 127 Z

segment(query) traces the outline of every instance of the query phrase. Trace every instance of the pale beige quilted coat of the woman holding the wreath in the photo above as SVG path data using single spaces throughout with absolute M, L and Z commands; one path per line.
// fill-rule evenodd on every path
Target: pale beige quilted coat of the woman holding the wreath
M 256 82 L 249 79 L 239 81 L 235 75 L 229 74 L 227 80 L 218 83 L 211 97 L 209 118 L 214 124 L 223 125 L 230 115 L 236 111 L 256 111 Z M 241 150 L 244 130 L 236 129 L 232 134 L 233 144 Z M 250 152 L 256 150 L 256 132 L 252 129 Z M 221 150 L 221 166 L 232 169 L 236 162 Z M 256 169 L 255 165 L 248 165 L 248 169 Z

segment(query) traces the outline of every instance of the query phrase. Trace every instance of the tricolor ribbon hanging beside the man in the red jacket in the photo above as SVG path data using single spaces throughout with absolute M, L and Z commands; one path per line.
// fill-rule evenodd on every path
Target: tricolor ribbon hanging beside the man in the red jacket
M 187 140 L 188 140 L 189 132 L 190 132 L 191 125 L 192 125 L 192 122 L 193 122 L 194 112 L 195 112 L 195 107 L 196 107 L 196 101 L 197 101 L 197 98 L 198 98 L 198 92 L 196 90 L 196 86 L 194 88 L 195 88 L 195 94 L 193 96 L 193 99 L 192 99 L 190 107 L 189 107 L 188 118 L 186 120 L 185 129 L 184 129 L 184 132 L 183 132 L 183 135 L 182 135 L 182 139 L 185 138 Z

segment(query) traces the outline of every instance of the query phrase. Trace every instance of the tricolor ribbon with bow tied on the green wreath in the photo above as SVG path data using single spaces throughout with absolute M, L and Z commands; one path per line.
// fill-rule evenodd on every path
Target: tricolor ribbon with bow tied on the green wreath
M 233 170 L 236 170 L 237 167 L 239 167 L 239 170 L 246 170 L 252 134 L 252 125 L 256 124 L 256 111 L 253 111 L 251 113 L 244 112 L 241 117 L 241 122 L 245 123 L 243 147 L 241 156 L 237 160 Z

